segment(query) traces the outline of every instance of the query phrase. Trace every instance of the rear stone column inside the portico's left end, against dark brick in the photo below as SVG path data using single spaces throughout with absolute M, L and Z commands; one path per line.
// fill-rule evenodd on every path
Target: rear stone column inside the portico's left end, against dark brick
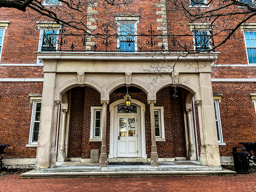
M 61 137 L 59 137 L 61 139 L 60 141 L 60 145 L 59 145 L 59 156 L 58 156 L 58 161 L 59 162 L 64 162 L 66 161 L 66 152 L 65 152 L 65 133 L 66 133 L 66 121 L 67 121 L 67 109 L 63 109 L 61 110 L 63 112 L 62 115 L 62 123 L 61 123 L 61 127 L 60 127 L 60 131 L 61 131 Z

